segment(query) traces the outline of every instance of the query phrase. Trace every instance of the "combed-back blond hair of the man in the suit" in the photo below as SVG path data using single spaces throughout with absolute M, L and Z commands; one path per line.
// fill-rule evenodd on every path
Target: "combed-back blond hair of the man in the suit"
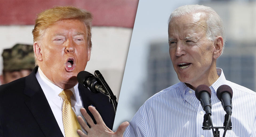
M 34 42 L 43 35 L 43 31 L 57 21 L 65 19 L 77 19 L 82 21 L 87 28 L 88 48 L 91 49 L 91 21 L 93 16 L 90 12 L 71 6 L 58 6 L 45 10 L 37 15 L 35 27 L 32 30 Z

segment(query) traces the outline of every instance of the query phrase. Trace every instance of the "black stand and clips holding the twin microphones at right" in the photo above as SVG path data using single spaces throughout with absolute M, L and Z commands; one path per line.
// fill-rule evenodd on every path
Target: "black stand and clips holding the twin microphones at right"
M 228 119 L 229 119 L 229 124 L 227 125 Z M 224 117 L 223 127 L 211 127 L 211 123 L 210 123 L 210 120 L 209 120 L 207 114 L 205 114 L 205 115 L 203 116 L 203 127 L 202 127 L 202 129 L 203 129 L 203 130 L 210 130 L 210 129 L 212 129 L 212 128 L 215 129 L 214 132 L 215 132 L 216 137 L 220 137 L 220 135 L 219 135 L 219 129 L 225 129 L 226 125 L 227 125 L 227 130 L 231 130 L 231 129 L 232 129 L 232 123 L 231 123 L 230 118 L 228 118 L 228 115 L 227 115 L 227 114 L 225 114 L 225 117 Z M 214 135 L 213 135 L 213 136 L 214 136 Z M 225 136 L 225 135 L 224 135 L 224 136 Z M 223 137 L 224 137 L 224 136 L 223 136 Z

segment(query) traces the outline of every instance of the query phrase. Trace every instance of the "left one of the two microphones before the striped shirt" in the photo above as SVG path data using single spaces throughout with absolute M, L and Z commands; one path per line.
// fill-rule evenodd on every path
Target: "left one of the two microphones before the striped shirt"
M 205 113 L 211 115 L 211 89 L 206 85 L 199 85 L 195 89 L 195 96 L 201 102 Z

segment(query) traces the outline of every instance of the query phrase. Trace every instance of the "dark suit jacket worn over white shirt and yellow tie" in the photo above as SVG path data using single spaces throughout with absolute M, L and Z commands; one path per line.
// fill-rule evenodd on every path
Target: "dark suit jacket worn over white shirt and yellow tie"
M 35 77 L 37 70 L 38 67 L 29 76 L 0 86 L 0 136 L 63 136 Z M 95 94 L 82 85 L 78 85 L 78 89 L 90 116 L 93 118 L 88 106 L 93 105 L 112 129 L 115 113 L 109 98 L 102 93 Z

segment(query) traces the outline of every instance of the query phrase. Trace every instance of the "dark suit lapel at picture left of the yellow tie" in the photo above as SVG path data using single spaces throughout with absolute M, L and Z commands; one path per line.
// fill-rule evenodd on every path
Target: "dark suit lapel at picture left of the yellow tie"
M 29 98 L 25 101 L 25 104 L 45 136 L 63 136 L 45 94 L 35 77 L 37 69 L 38 67 L 26 77 L 24 94 L 28 95 Z

